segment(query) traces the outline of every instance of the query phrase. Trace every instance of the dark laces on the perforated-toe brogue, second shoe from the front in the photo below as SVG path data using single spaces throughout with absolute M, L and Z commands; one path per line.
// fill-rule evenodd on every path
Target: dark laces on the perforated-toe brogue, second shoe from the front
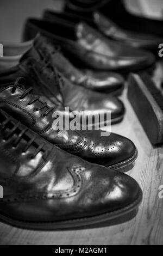
M 24 81 L 24 78 L 23 78 L 23 77 L 18 77 L 17 80 L 15 81 L 14 86 L 12 87 L 11 93 L 15 93 L 15 91 L 16 91 L 16 89 L 17 89 L 18 86 L 23 86 L 23 84 L 20 83 L 21 81 Z M 26 97 L 28 94 L 31 94 L 32 91 L 33 91 L 33 88 L 32 88 L 32 87 L 28 88 L 28 89 L 20 96 L 20 100 L 24 99 L 24 97 Z M 34 103 L 34 102 L 36 102 L 36 101 L 39 101 L 39 102 L 41 103 L 41 106 L 35 108 L 35 111 L 40 111 L 40 110 L 43 109 L 43 108 L 47 108 L 47 111 L 42 114 L 43 117 L 46 117 L 50 112 L 53 112 L 53 111 L 54 111 L 54 108 L 53 108 L 53 107 L 49 107 L 46 102 L 43 103 L 43 102 L 40 100 L 40 97 L 39 97 L 39 96 L 36 96 L 36 97 L 34 97 L 34 99 L 32 99 L 31 101 L 29 101 L 29 102 L 28 102 L 28 105 L 32 105 L 32 103 Z

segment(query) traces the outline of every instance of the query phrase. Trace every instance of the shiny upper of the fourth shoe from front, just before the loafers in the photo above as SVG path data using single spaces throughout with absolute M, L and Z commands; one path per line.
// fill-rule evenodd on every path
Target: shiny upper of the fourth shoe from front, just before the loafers
M 53 44 L 42 36 L 34 40 L 35 49 L 42 51 L 43 56 L 52 60 L 55 68 L 70 82 L 83 86 L 97 92 L 112 93 L 122 90 L 124 79 L 114 72 L 93 72 L 91 70 L 79 70 L 57 49 L 59 46 Z

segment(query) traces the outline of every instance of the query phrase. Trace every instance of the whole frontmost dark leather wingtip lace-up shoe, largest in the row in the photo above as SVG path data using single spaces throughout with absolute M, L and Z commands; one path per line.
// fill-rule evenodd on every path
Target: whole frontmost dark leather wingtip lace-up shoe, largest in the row
M 0 218 L 53 230 L 112 220 L 137 209 L 135 180 L 65 153 L 0 111 Z

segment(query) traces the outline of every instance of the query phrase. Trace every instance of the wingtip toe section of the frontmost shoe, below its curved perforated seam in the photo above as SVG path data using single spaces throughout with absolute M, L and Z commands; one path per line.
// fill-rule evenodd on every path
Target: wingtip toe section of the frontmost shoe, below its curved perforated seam
M 75 196 L 4 203 L 1 204 L 2 212 L 10 212 L 12 219 L 20 223 L 25 221 L 27 227 L 29 223 L 29 227 L 34 225 L 36 229 L 42 229 L 41 223 L 45 227 L 51 223 L 54 229 L 58 224 L 66 225 L 66 222 L 74 225 L 83 220 L 84 224 L 94 217 L 101 222 L 105 215 L 114 219 L 139 206 L 142 192 L 134 179 L 114 170 L 108 172 L 108 168 L 98 165 L 92 166 L 92 180 L 88 179 L 88 173 L 81 174 L 85 186 Z

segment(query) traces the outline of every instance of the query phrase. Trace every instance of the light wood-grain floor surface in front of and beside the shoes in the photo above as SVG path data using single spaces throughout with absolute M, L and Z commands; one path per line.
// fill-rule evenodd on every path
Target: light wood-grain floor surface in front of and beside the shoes
M 160 72 L 158 72 L 159 74 Z M 159 77 L 159 75 L 157 75 Z M 3 245 L 162 245 L 163 147 L 153 148 L 126 97 L 122 96 L 127 113 L 112 132 L 130 138 L 139 151 L 136 164 L 128 174 L 136 179 L 143 191 L 143 201 L 137 215 L 118 220 L 119 224 L 103 223 L 89 228 L 67 231 L 30 231 L 0 223 L 0 243 Z M 150 125 L 150 124 L 149 124 Z M 131 220 L 129 220 L 131 219 Z M 124 222 L 125 223 L 120 223 Z M 129 221 L 127 221 L 129 220 Z

